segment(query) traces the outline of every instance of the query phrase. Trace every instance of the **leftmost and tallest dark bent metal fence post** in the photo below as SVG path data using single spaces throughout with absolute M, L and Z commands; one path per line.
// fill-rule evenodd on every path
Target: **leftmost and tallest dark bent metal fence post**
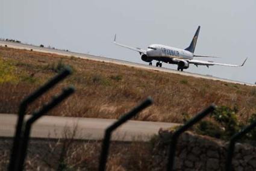
M 45 85 L 37 89 L 35 92 L 31 93 L 27 98 L 25 98 L 19 107 L 18 111 L 18 118 L 17 118 L 17 124 L 16 124 L 16 132 L 13 138 L 13 148 L 11 150 L 10 155 L 10 164 L 8 167 L 8 170 L 13 171 L 14 167 L 17 163 L 17 152 L 19 151 L 19 143 L 20 143 L 20 134 L 22 131 L 22 124 L 24 120 L 24 116 L 27 110 L 27 107 L 29 104 L 34 102 L 37 98 L 42 96 L 44 93 L 46 93 L 49 89 L 54 87 L 58 82 L 62 81 L 64 78 L 66 78 L 68 75 L 72 73 L 72 70 L 69 68 L 65 68 L 63 72 L 52 78 L 50 81 L 46 82 Z

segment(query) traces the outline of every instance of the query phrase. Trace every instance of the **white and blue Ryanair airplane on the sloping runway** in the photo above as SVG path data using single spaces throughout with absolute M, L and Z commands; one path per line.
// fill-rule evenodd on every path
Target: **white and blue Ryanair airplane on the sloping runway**
M 152 66 L 153 60 L 157 61 L 157 64 L 156 64 L 157 67 L 162 67 L 162 63 L 177 64 L 178 70 L 181 70 L 181 71 L 183 71 L 183 69 L 188 69 L 190 64 L 194 64 L 196 67 L 200 65 L 207 66 L 207 67 L 213 66 L 213 65 L 240 67 L 245 64 L 247 58 L 240 65 L 214 63 L 213 61 L 193 60 L 194 57 L 217 58 L 217 57 L 211 57 L 206 55 L 194 54 L 199 31 L 200 31 L 200 26 L 198 26 L 195 36 L 192 39 L 192 42 L 190 43 L 189 47 L 187 47 L 186 49 L 178 49 L 170 46 L 157 45 L 157 44 L 149 45 L 148 49 L 146 50 L 140 49 L 140 48 L 133 48 L 131 46 L 117 43 L 116 35 L 114 36 L 114 43 L 118 46 L 122 46 L 123 48 L 128 48 L 133 51 L 139 52 L 142 60 L 145 62 L 148 62 L 149 66 Z

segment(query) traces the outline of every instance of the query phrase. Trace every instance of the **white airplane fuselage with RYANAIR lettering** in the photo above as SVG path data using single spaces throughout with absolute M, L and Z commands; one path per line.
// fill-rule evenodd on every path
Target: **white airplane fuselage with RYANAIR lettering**
M 180 58 L 184 60 L 192 60 L 194 56 L 192 52 L 183 49 L 157 44 L 149 45 L 146 55 L 152 58 Z

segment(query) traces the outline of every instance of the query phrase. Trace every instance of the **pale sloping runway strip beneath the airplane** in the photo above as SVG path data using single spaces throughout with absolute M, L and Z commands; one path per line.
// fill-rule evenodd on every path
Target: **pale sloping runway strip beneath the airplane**
M 246 85 L 255 86 L 254 84 L 248 84 L 245 82 L 222 79 L 222 78 L 217 78 L 217 77 L 207 76 L 207 75 L 200 75 L 197 73 L 180 72 L 177 70 L 167 69 L 164 67 L 160 68 L 160 67 L 155 67 L 155 66 L 148 66 L 146 64 L 131 63 L 129 61 L 116 60 L 116 59 L 105 58 L 105 57 L 98 57 L 95 55 L 81 54 L 81 53 L 76 53 L 76 52 L 67 52 L 67 51 L 58 50 L 58 49 L 40 48 L 39 46 L 26 45 L 23 43 L 6 42 L 6 41 L 0 40 L 0 46 L 5 46 L 5 45 L 7 45 L 10 48 L 16 48 L 16 49 L 28 49 L 28 50 L 33 49 L 33 51 L 37 51 L 37 52 L 45 52 L 45 53 L 50 53 L 50 54 L 73 56 L 73 57 L 83 58 L 83 59 L 87 59 L 87 60 L 104 61 L 105 63 L 122 64 L 125 66 L 139 67 L 139 68 L 148 69 L 148 70 L 158 70 L 161 72 L 178 73 L 180 75 L 193 76 L 193 77 L 197 77 L 197 78 L 205 78 L 205 79 L 231 82 L 231 83 L 236 83 L 236 84 L 246 84 Z

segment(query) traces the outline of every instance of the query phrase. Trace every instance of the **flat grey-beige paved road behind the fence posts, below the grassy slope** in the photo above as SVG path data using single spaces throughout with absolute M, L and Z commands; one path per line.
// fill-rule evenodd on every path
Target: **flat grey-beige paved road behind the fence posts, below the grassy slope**
M 30 116 L 26 116 L 28 117 Z M 0 114 L 0 137 L 13 137 L 16 121 L 16 114 Z M 43 116 L 34 123 L 31 137 L 61 138 L 64 130 L 72 131 L 76 128 L 76 139 L 101 140 L 105 128 L 115 121 L 115 119 Z M 152 135 L 157 134 L 160 128 L 176 125 L 178 124 L 130 120 L 113 132 L 112 140 L 147 141 Z

